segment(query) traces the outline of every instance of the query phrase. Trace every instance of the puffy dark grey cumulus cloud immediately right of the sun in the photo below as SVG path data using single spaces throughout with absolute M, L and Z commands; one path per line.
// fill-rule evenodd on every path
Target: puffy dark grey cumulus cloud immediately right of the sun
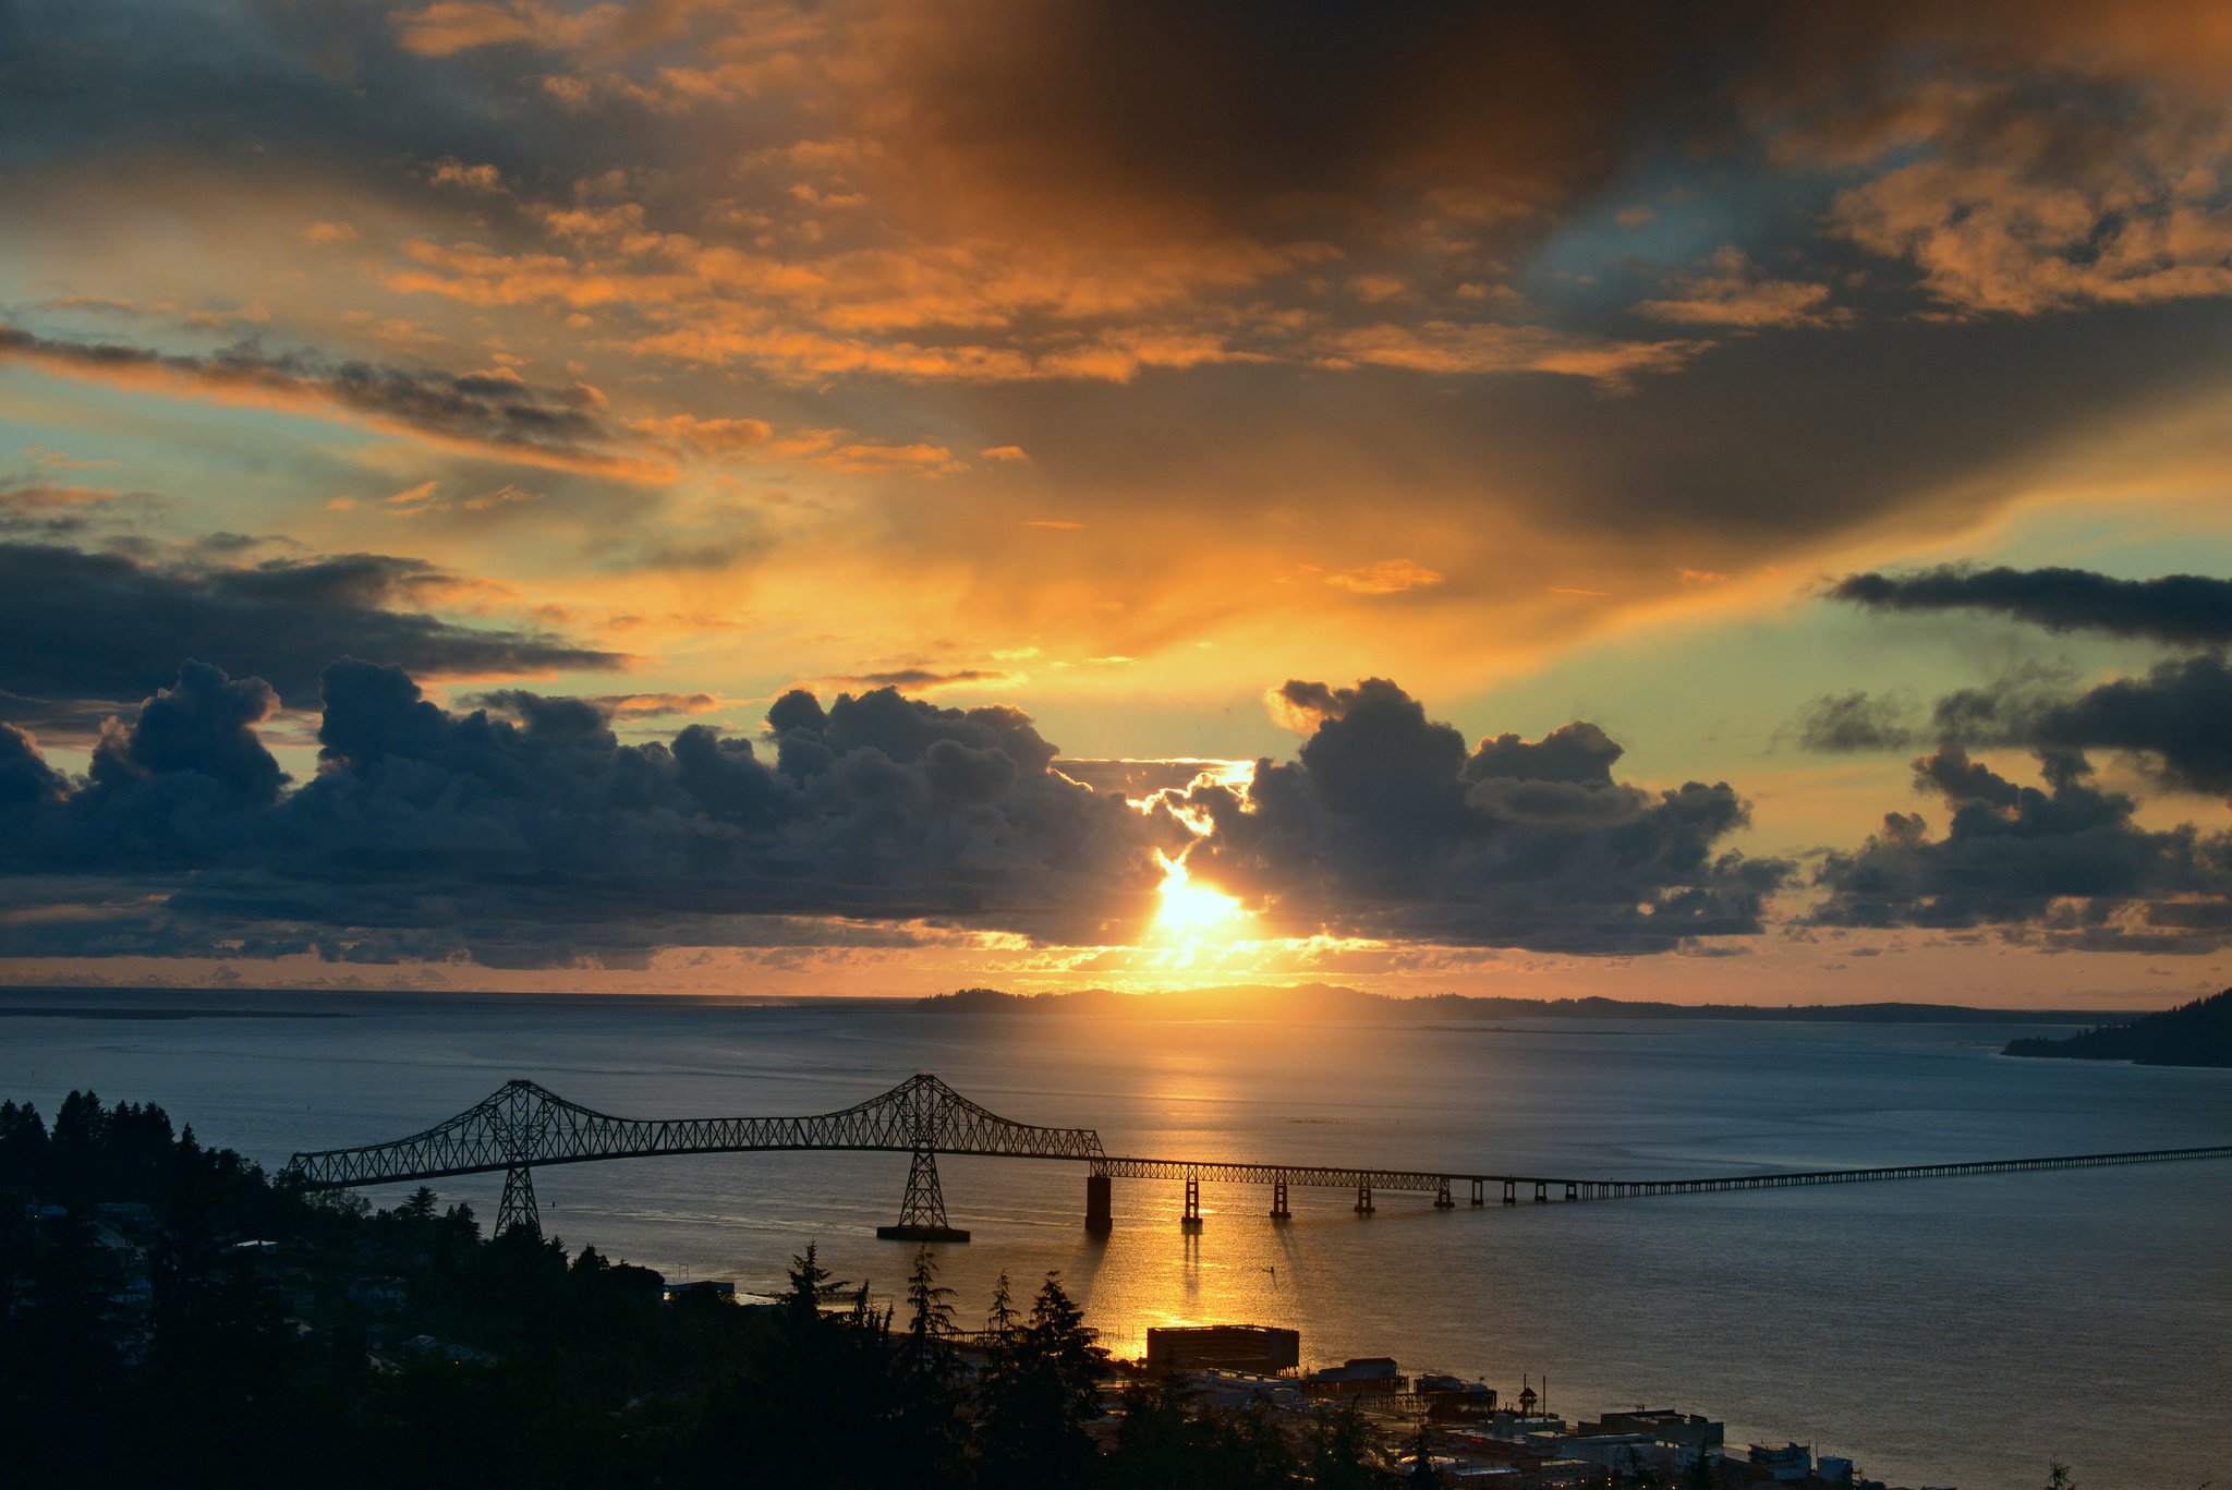
M 1174 797 L 1214 831 L 1187 865 L 1261 900 L 1288 929 L 1529 947 L 1672 952 L 1757 934 L 1781 860 L 1716 844 L 1745 824 L 1728 784 L 1616 782 L 1620 746 L 1594 724 L 1538 742 L 1464 737 L 1386 679 L 1286 684 L 1317 726 L 1292 764 L 1245 791 Z

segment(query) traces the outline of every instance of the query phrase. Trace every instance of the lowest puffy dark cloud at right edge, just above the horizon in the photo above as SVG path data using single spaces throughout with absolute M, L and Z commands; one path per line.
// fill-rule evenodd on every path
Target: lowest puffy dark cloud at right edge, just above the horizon
M 1951 811 L 1944 838 L 1920 813 L 1832 853 L 1817 873 L 1817 925 L 1998 927 L 2060 949 L 2210 952 L 2232 932 L 2232 838 L 2152 831 L 2136 804 L 2091 784 L 2076 751 L 2042 751 L 2045 791 L 1960 748 L 1915 760 L 1915 786 Z

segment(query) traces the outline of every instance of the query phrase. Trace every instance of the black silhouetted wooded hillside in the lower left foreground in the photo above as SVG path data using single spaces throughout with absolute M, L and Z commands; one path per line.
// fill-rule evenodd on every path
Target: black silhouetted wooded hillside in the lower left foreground
M 420 1188 L 301 1193 L 71 1095 L 0 1104 L 9 1486 L 1397 1483 L 1355 1416 L 1205 1414 L 1109 1376 L 1049 1273 L 964 1329 L 931 1255 L 904 1300 L 792 1260 L 772 1307 L 658 1278 Z M 1408 1474 L 1404 1479 L 1411 1479 Z

